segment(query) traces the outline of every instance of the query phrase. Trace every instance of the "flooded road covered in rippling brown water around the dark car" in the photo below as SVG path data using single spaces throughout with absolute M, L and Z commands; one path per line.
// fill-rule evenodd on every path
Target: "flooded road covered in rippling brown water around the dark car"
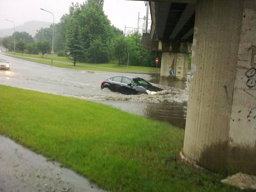
M 93 100 L 137 115 L 185 127 L 188 79 L 178 81 L 152 74 L 58 68 L 4 55 L 0 57 L 9 61 L 11 66 L 10 71 L 0 70 L 0 84 Z M 120 75 L 140 76 L 164 91 L 157 95 L 123 95 L 108 89 L 100 89 L 101 80 Z

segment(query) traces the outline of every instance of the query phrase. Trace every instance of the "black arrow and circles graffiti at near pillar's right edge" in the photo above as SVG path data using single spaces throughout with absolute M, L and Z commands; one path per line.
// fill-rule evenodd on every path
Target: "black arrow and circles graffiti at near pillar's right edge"
M 251 46 L 248 51 L 252 50 L 252 58 L 251 58 L 251 67 L 245 72 L 245 76 L 248 78 L 246 81 L 246 86 L 249 88 L 256 86 L 256 68 L 254 63 L 254 55 L 256 54 L 256 46 Z

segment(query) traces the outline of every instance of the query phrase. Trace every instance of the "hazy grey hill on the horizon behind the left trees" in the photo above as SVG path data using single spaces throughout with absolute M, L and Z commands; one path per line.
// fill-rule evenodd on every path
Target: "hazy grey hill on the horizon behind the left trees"
M 27 21 L 23 25 L 15 26 L 15 31 L 26 31 L 31 36 L 35 36 L 36 30 L 39 30 L 40 28 L 49 27 L 49 25 L 52 24 L 51 22 L 44 22 L 44 21 Z M 13 28 L 8 29 L 2 29 L 2 35 L 4 36 L 10 36 L 13 34 Z M 1 34 L 0 34 L 1 35 Z

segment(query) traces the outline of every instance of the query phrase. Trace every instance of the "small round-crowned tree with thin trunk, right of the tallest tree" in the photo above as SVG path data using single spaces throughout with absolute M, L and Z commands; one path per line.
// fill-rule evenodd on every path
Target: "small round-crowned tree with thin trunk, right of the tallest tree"
M 120 65 L 120 60 L 124 57 L 125 49 L 127 49 L 127 43 L 123 35 L 116 37 L 113 49 L 114 55 L 118 59 L 118 65 Z

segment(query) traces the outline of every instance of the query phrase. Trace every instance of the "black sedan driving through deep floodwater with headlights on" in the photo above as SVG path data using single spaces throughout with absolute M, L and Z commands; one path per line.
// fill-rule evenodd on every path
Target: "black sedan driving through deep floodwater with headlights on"
M 153 86 L 145 79 L 134 76 L 116 76 L 101 81 L 101 89 L 108 88 L 114 92 L 127 95 L 156 94 L 163 89 Z

